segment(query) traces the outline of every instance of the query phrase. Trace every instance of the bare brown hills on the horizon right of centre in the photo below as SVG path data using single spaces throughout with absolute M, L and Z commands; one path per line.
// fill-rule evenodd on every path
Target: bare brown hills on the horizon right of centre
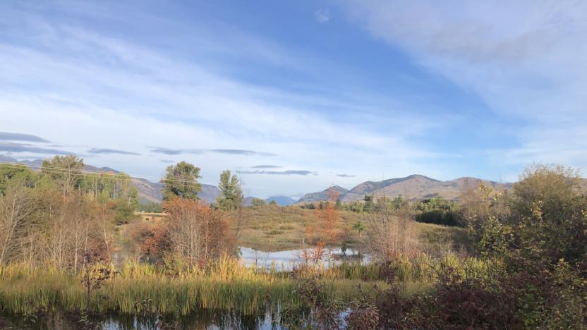
M 406 176 L 405 178 L 391 178 L 384 181 L 367 181 L 356 185 L 351 190 L 334 186 L 334 190 L 340 193 L 342 202 L 362 200 L 365 195 L 397 197 L 406 196 L 410 199 L 420 200 L 440 196 L 449 200 L 456 200 L 466 190 L 476 188 L 479 183 L 484 182 L 495 190 L 507 189 L 511 184 L 497 183 L 495 181 L 484 181 L 478 178 L 457 178 L 452 181 L 439 181 L 418 174 Z M 327 191 L 304 195 L 299 203 L 317 202 L 327 199 Z

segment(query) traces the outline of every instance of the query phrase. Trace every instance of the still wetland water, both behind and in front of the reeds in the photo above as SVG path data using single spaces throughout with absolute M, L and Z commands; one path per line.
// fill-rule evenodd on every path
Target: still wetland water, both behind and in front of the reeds
M 284 250 L 262 252 L 249 247 L 240 248 L 240 257 L 248 267 L 291 271 L 296 265 L 303 264 L 304 250 Z M 343 260 L 362 263 L 370 262 L 368 255 L 361 255 L 357 250 L 328 249 L 327 256 L 320 262 L 329 267 Z M 344 315 L 339 315 L 340 324 L 344 324 Z M 311 320 L 301 316 L 296 326 L 285 326 L 279 311 L 267 307 L 265 312 L 244 314 L 238 310 L 199 309 L 187 316 L 174 316 L 155 313 L 147 314 L 100 314 L 90 317 L 80 312 L 37 311 L 32 314 L 6 314 L 0 312 L 0 329 L 298 329 L 312 324 Z

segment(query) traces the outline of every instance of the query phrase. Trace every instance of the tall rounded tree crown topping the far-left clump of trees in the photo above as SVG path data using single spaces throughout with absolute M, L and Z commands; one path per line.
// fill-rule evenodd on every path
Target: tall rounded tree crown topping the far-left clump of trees
M 78 189 L 83 179 L 83 159 L 70 154 L 45 159 L 41 171 L 55 181 L 63 195 Z

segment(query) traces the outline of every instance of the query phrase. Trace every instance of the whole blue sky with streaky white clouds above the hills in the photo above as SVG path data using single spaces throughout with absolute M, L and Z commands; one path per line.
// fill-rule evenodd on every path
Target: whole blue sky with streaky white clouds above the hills
M 248 195 L 587 170 L 587 1 L 1 1 L 0 154 Z

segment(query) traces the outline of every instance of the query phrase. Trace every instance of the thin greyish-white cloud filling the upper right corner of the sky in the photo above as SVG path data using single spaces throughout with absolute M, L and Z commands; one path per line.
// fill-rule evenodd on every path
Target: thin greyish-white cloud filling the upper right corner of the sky
M 507 142 L 471 150 L 492 166 L 557 162 L 587 169 L 586 1 L 348 0 L 346 16 L 485 105 Z M 414 20 L 414 17 L 418 17 Z M 483 117 L 483 112 L 486 113 Z

